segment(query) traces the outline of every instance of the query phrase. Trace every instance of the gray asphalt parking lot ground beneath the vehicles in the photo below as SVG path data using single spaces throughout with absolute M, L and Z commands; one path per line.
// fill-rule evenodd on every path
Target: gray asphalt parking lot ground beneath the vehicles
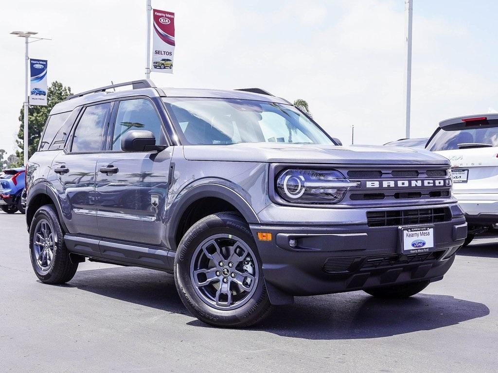
M 207 326 L 171 275 L 86 262 L 40 283 L 24 215 L 0 212 L 0 372 L 497 372 L 498 238 L 404 301 L 300 297 L 247 330 Z

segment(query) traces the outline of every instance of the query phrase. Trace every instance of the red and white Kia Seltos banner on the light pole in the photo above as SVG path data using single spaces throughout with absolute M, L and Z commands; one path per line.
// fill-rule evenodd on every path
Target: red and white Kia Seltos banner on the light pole
M 151 71 L 172 73 L 175 51 L 175 13 L 152 9 L 152 15 L 154 36 Z

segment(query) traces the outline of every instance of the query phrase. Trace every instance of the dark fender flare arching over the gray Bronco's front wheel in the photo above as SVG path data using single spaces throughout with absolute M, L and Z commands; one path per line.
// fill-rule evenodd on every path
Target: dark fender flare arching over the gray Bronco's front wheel
M 227 184 L 226 181 L 224 182 L 224 184 Z M 209 183 L 192 187 L 184 193 L 180 192 L 168 208 L 166 239 L 170 249 L 175 250 L 176 248 L 175 235 L 183 213 L 193 202 L 201 198 L 216 197 L 226 200 L 242 214 L 248 223 L 259 223 L 259 218 L 249 202 L 234 188 L 235 186 L 228 187 L 210 181 Z

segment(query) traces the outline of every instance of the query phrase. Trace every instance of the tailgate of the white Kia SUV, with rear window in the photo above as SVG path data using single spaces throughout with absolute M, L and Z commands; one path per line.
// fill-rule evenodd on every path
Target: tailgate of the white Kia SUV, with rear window
M 498 119 L 471 119 L 439 128 L 427 149 L 450 160 L 455 193 L 498 193 Z

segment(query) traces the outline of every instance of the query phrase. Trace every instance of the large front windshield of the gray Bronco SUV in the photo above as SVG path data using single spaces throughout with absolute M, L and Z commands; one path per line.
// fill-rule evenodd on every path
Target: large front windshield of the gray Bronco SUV
M 292 105 L 225 98 L 167 98 L 168 112 L 182 136 L 192 145 L 230 145 L 277 142 L 334 143 Z

